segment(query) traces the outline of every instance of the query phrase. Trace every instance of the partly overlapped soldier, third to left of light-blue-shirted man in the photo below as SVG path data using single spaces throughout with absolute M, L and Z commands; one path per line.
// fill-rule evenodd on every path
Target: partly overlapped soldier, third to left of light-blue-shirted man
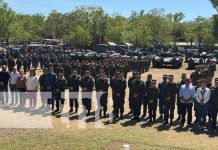
M 160 118 L 163 119 L 164 114 L 164 90 L 167 86 L 167 75 L 163 75 L 163 81 L 159 83 L 158 89 L 159 89 L 159 111 L 160 111 Z

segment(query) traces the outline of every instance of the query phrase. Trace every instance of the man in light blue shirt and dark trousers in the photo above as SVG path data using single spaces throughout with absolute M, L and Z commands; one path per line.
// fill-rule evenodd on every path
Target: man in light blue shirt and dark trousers
M 185 84 L 180 87 L 179 90 L 179 100 L 182 112 L 181 126 L 184 126 L 186 112 L 188 112 L 188 126 L 192 123 L 192 107 L 195 98 L 195 88 L 190 85 L 191 80 L 189 78 L 185 79 Z

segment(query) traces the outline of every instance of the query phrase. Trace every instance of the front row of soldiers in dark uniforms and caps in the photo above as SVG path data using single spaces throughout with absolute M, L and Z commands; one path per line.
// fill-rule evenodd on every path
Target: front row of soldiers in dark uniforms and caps
M 49 69 L 51 70 L 51 69 Z M 49 71 L 51 73 L 51 71 Z M 54 74 L 54 73 L 53 73 Z M 43 75 L 40 76 L 40 89 L 41 91 L 50 91 L 51 88 L 47 84 L 54 83 L 54 91 L 56 107 L 57 109 L 54 112 L 59 112 L 63 109 L 63 104 L 65 99 L 61 99 L 61 93 L 63 94 L 66 88 L 69 88 L 69 91 L 74 94 L 71 95 L 70 100 L 70 110 L 69 112 L 73 112 L 73 107 L 75 107 L 75 111 L 78 111 L 78 93 L 82 93 L 82 105 L 87 110 L 87 115 L 90 115 L 90 111 L 92 108 L 92 94 L 94 91 L 94 87 L 96 89 L 96 98 L 98 101 L 98 107 L 100 108 L 99 116 L 106 117 L 107 113 L 107 102 L 108 102 L 108 89 L 112 88 L 112 99 L 113 99 L 113 115 L 114 118 L 123 118 L 124 113 L 124 104 L 125 104 L 125 96 L 126 96 L 126 88 L 129 87 L 129 114 L 133 115 L 133 120 L 139 120 L 141 116 L 141 107 L 143 106 L 143 115 L 142 117 L 146 117 L 148 113 L 149 122 L 153 123 L 156 121 L 156 113 L 157 107 L 159 104 L 160 118 L 164 119 L 164 124 L 170 123 L 173 125 L 174 119 L 174 110 L 177 105 L 177 113 L 178 119 L 181 121 L 182 113 L 183 113 L 183 105 L 180 101 L 179 90 L 182 85 L 186 83 L 187 79 L 186 74 L 182 74 L 181 81 L 178 83 L 174 82 L 173 75 L 163 75 L 163 81 L 159 83 L 157 86 L 157 81 L 152 79 L 152 75 L 149 74 L 147 76 L 147 80 L 144 82 L 141 80 L 141 75 L 139 73 L 133 72 L 133 76 L 129 78 L 128 83 L 124 78 L 124 74 L 122 72 L 117 71 L 115 76 L 111 79 L 106 78 L 106 74 L 103 70 L 99 72 L 99 77 L 95 80 L 91 76 L 90 70 L 85 71 L 85 75 L 83 77 L 78 75 L 77 70 L 73 70 L 71 76 L 68 80 L 64 78 L 63 72 L 58 74 L 58 79 L 56 82 L 47 82 L 47 71 L 44 69 Z M 55 78 L 54 78 L 55 79 Z M 47 82 L 47 83 L 46 83 Z M 218 80 L 216 80 L 218 82 Z M 56 83 L 56 84 L 55 84 Z M 200 80 L 198 84 L 195 86 L 197 90 L 201 86 Z M 210 84 L 207 84 L 212 91 L 212 106 L 218 106 L 218 101 L 216 100 L 216 95 L 218 95 L 218 87 L 210 87 Z M 81 87 L 81 91 L 79 90 Z M 50 89 L 50 90 L 49 90 Z M 99 96 L 100 94 L 101 96 Z M 214 97 L 215 95 L 215 97 Z M 49 103 L 50 104 L 50 103 Z M 61 104 L 61 107 L 60 107 Z M 196 112 L 196 109 L 194 109 Z M 214 112 L 217 114 L 218 108 L 211 107 L 208 109 L 209 121 L 211 119 L 213 124 L 216 124 L 216 117 L 214 116 Z M 197 112 L 195 113 L 197 116 Z M 216 116 L 216 115 L 215 115 Z M 190 119 L 188 119 L 190 121 Z M 197 122 L 197 120 L 195 121 Z M 214 125 L 215 126 L 215 125 Z

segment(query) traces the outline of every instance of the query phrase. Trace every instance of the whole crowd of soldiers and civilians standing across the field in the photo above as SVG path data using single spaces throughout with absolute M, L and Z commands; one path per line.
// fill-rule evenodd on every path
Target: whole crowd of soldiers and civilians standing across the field
M 24 75 L 24 65 L 18 69 L 18 65 L 15 67 L 15 63 L 11 69 L 3 63 L 0 72 L 1 104 L 8 103 L 9 85 L 12 97 L 11 105 L 19 103 L 19 107 L 25 107 L 26 98 L 28 98 L 29 108 L 35 109 L 36 92 L 39 89 L 41 97 L 44 97 L 43 93 L 51 93 L 50 98 L 41 98 L 42 106 L 40 109 L 52 110 L 54 114 L 58 114 L 62 112 L 66 101 L 62 95 L 65 94 L 66 89 L 69 89 L 69 92 L 73 95 L 68 98 L 69 113 L 78 112 L 78 95 L 81 92 L 82 105 L 85 107 L 87 115 L 90 115 L 92 94 L 96 90 L 98 107 L 100 107 L 98 115 L 101 118 L 107 116 L 108 91 L 111 87 L 113 117 L 114 119 L 123 119 L 126 88 L 128 87 L 129 115 L 132 115 L 133 120 L 139 121 L 141 117 L 144 118 L 148 115 L 149 122 L 155 123 L 157 108 L 159 107 L 159 119 L 163 120 L 165 125 L 173 125 L 177 106 L 177 120 L 180 121 L 181 126 L 184 126 L 186 122 L 186 115 L 188 126 L 192 125 L 192 112 L 194 110 L 195 124 L 202 127 L 208 120 L 212 128 L 216 128 L 218 78 L 215 79 L 215 86 L 212 87 L 211 79 L 216 69 L 211 69 L 211 67 L 214 66 L 208 65 L 203 69 L 204 71 L 196 67 L 190 78 L 186 74 L 182 74 L 179 83 L 174 82 L 173 75 L 163 75 L 163 81 L 158 84 L 151 74 L 147 76 L 146 81 L 141 80 L 141 73 L 149 70 L 150 62 L 147 60 L 120 58 L 105 59 L 98 62 L 93 60 L 57 62 L 49 61 L 45 63 L 47 65 L 42 67 L 43 74 L 39 78 L 35 72 L 38 63 L 34 65 L 32 62 L 33 68 L 29 69 L 29 76 Z M 114 68 L 111 66 L 114 66 Z M 7 71 L 7 68 L 9 71 Z M 205 74 L 207 69 L 212 71 Z M 128 72 L 133 72 L 133 75 L 127 81 Z M 208 77 L 210 77 L 210 80 L 208 80 Z M 101 96 L 97 94 L 101 94 Z

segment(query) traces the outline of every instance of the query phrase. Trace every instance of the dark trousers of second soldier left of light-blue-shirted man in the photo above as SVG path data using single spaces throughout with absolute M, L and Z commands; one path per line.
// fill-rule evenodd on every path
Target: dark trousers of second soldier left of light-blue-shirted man
M 165 120 L 174 118 L 175 98 L 164 101 L 164 118 Z

